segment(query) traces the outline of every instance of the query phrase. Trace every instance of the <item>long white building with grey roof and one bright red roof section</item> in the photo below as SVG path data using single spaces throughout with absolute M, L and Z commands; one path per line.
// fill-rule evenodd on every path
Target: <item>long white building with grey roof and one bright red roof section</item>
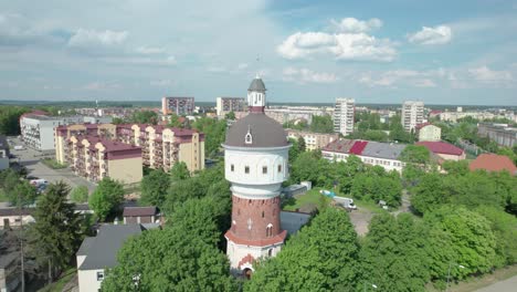
M 399 159 L 407 145 L 393 143 L 379 143 L 368 140 L 338 139 L 328 144 L 321 155 L 328 160 L 341 161 L 348 156 L 356 155 L 362 163 L 378 165 L 387 171 L 402 171 L 404 163 Z

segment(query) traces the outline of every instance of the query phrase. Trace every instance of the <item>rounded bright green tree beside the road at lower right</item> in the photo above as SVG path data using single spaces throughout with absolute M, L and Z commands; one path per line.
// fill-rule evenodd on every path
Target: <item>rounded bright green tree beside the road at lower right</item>
M 433 279 L 445 280 L 450 265 L 451 279 L 486 273 L 495 267 L 497 241 L 485 217 L 464 207 L 443 206 L 426 213 L 424 220 L 431 228 L 429 254 Z M 458 268 L 460 264 L 464 268 Z

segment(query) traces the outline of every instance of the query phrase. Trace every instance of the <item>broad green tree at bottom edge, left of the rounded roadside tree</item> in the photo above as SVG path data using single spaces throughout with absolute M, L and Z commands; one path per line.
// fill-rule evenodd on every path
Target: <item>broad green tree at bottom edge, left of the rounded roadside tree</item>
M 373 217 L 360 252 L 361 282 L 376 283 L 380 291 L 425 291 L 426 234 L 425 226 L 409 213 Z

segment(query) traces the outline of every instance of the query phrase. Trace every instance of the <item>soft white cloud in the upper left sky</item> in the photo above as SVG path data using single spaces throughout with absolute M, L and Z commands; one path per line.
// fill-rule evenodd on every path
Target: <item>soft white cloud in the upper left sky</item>
M 127 31 L 95 31 L 78 29 L 68 40 L 70 46 L 95 48 L 118 45 L 126 41 L 129 32 Z

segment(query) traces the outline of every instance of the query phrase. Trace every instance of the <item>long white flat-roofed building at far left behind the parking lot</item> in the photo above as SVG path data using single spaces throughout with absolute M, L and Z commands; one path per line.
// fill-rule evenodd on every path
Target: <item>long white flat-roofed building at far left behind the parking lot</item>
M 77 124 L 83 116 L 48 116 L 24 114 L 20 117 L 21 136 L 27 146 L 38 150 L 54 149 L 54 129 L 60 125 Z

